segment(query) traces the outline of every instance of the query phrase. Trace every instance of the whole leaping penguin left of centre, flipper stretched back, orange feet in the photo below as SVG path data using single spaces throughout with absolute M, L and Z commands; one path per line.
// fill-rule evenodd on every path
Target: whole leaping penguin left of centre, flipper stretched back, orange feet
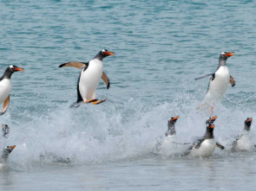
M 108 55 L 115 55 L 115 53 L 103 49 L 95 55 L 93 60 L 89 62 L 71 61 L 60 65 L 59 67 L 77 67 L 82 69 L 77 82 L 77 100 L 76 103 L 85 102 L 93 103 L 94 105 L 104 102 L 106 99 L 96 99 L 96 88 L 102 79 L 110 86 L 108 76 L 103 72 L 102 60 Z

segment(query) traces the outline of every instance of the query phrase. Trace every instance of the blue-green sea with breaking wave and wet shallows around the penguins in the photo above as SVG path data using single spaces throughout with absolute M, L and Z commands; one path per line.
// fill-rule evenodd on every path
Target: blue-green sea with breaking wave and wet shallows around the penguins
M 232 153 L 244 120 L 256 119 L 255 1 L 0 1 L 0 73 L 12 75 L 10 107 L 0 117 L 16 145 L 0 169 L 0 190 L 255 190 L 256 152 Z M 101 105 L 76 100 L 80 71 L 103 48 L 111 86 Z M 168 118 L 179 115 L 177 138 L 204 135 L 196 111 L 221 52 L 236 86 L 214 111 L 214 136 L 226 150 L 188 158 L 155 152 Z M 2 74 L 1 74 L 2 75 Z M 256 133 L 253 122 L 252 135 Z M 256 143 L 256 138 L 253 137 Z

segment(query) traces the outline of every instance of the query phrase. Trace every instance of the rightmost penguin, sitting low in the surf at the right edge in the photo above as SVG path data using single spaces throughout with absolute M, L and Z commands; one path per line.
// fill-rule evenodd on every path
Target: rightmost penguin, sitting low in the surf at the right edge
M 232 151 L 253 151 L 253 135 L 250 133 L 253 118 L 246 118 L 244 133 L 232 145 Z

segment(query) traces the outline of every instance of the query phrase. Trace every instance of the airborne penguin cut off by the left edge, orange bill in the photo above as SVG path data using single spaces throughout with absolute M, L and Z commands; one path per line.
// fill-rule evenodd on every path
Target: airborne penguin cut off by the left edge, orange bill
M 3 113 L 7 110 L 9 106 L 11 89 L 10 77 L 12 73 L 15 73 L 17 71 L 24 71 L 24 69 L 21 67 L 10 65 L 10 67 L 6 68 L 3 76 L 0 78 L 0 105 L 3 104 L 3 109 L 0 112 L 0 115 L 3 115 Z

